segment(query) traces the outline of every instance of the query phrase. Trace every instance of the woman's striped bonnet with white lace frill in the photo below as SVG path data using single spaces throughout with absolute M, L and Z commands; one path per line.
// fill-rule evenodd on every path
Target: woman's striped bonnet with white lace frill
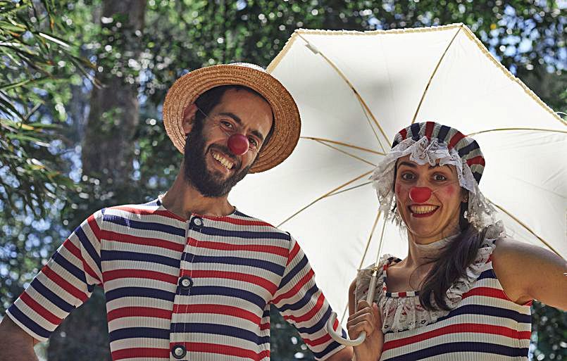
M 471 137 L 459 130 L 437 122 L 414 123 L 401 129 L 394 137 L 392 149 L 375 168 L 370 179 L 378 194 L 380 209 L 387 219 L 392 219 L 400 227 L 404 222 L 394 210 L 394 167 L 398 158 L 409 155 L 413 162 L 423 165 L 454 165 L 459 184 L 468 190 L 468 210 L 465 217 L 477 229 L 494 224 L 494 208 L 478 188 L 485 169 L 485 158 L 480 146 Z

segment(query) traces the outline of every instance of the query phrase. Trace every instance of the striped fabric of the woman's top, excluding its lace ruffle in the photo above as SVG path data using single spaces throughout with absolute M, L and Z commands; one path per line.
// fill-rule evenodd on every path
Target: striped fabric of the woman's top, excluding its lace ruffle
M 386 293 L 386 297 L 417 295 Z M 380 361 L 527 361 L 530 305 L 518 305 L 506 296 L 489 258 L 471 289 L 447 315 L 414 329 L 386 332 Z

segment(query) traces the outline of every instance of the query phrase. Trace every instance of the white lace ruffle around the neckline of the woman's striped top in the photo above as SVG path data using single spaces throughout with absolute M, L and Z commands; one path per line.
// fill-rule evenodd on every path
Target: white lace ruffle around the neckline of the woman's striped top
M 467 267 L 466 275 L 457 279 L 454 284 L 447 289 L 445 300 L 449 308 L 456 308 L 463 298 L 463 293 L 468 292 L 480 274 L 486 270 L 486 263 L 492 251 L 496 247 L 495 241 L 505 236 L 504 226 L 497 222 L 489 227 L 485 240 L 478 249 L 477 256 L 473 263 Z M 428 324 L 432 324 L 440 317 L 446 316 L 449 311 L 445 310 L 425 310 L 419 302 L 419 296 L 388 297 L 383 289 L 383 267 L 392 255 L 383 255 L 378 266 L 378 282 L 376 284 L 374 301 L 380 306 L 382 312 L 382 331 L 397 332 L 409 329 L 416 329 Z M 355 299 L 366 299 L 368 284 L 374 267 L 359 270 L 356 277 Z

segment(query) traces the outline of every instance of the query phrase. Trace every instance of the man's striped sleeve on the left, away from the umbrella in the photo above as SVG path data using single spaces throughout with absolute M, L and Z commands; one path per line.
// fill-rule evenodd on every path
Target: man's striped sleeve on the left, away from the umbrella
M 6 315 L 39 341 L 46 341 L 67 315 L 101 284 L 100 222 L 91 215 L 75 229 Z

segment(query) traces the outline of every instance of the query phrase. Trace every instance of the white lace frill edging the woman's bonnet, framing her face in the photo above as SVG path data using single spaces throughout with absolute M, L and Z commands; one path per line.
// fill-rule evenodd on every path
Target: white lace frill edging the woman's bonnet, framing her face
M 392 219 L 399 227 L 404 227 L 404 222 L 401 220 L 399 213 L 397 211 L 392 212 L 392 209 L 394 209 L 396 204 L 394 167 L 398 158 L 407 155 L 409 155 L 411 161 L 419 165 L 425 163 L 435 165 L 437 160 L 439 160 L 440 165 L 454 165 L 459 178 L 459 184 L 468 190 L 468 210 L 466 212 L 468 222 L 473 224 L 476 229 L 482 229 L 487 227 L 487 225 L 494 224 L 494 208 L 480 192 L 468 164 L 461 160 L 459 153 L 454 148 L 449 150 L 447 144 L 440 143 L 435 138 L 429 140 L 427 137 L 421 137 L 418 141 L 411 138 L 401 141 L 382 158 L 370 177 L 378 194 L 380 210 L 385 213 L 387 219 Z

